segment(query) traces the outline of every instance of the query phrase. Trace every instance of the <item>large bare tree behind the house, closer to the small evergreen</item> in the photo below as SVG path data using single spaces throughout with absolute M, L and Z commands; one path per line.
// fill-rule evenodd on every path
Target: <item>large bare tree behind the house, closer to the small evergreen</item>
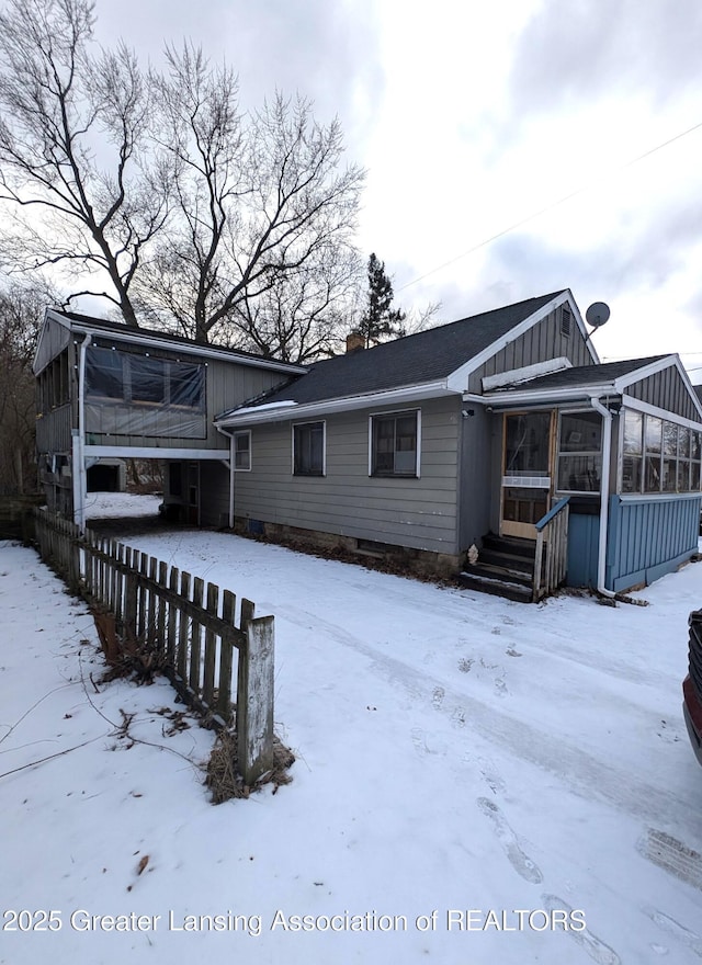
M 340 169 L 339 122 L 318 124 L 307 101 L 276 94 L 245 114 L 227 67 L 189 46 L 167 55 L 155 87 L 179 217 L 143 275 L 144 304 L 200 342 L 303 357 L 358 272 L 364 174 Z M 303 317 L 309 330 L 286 334 Z

